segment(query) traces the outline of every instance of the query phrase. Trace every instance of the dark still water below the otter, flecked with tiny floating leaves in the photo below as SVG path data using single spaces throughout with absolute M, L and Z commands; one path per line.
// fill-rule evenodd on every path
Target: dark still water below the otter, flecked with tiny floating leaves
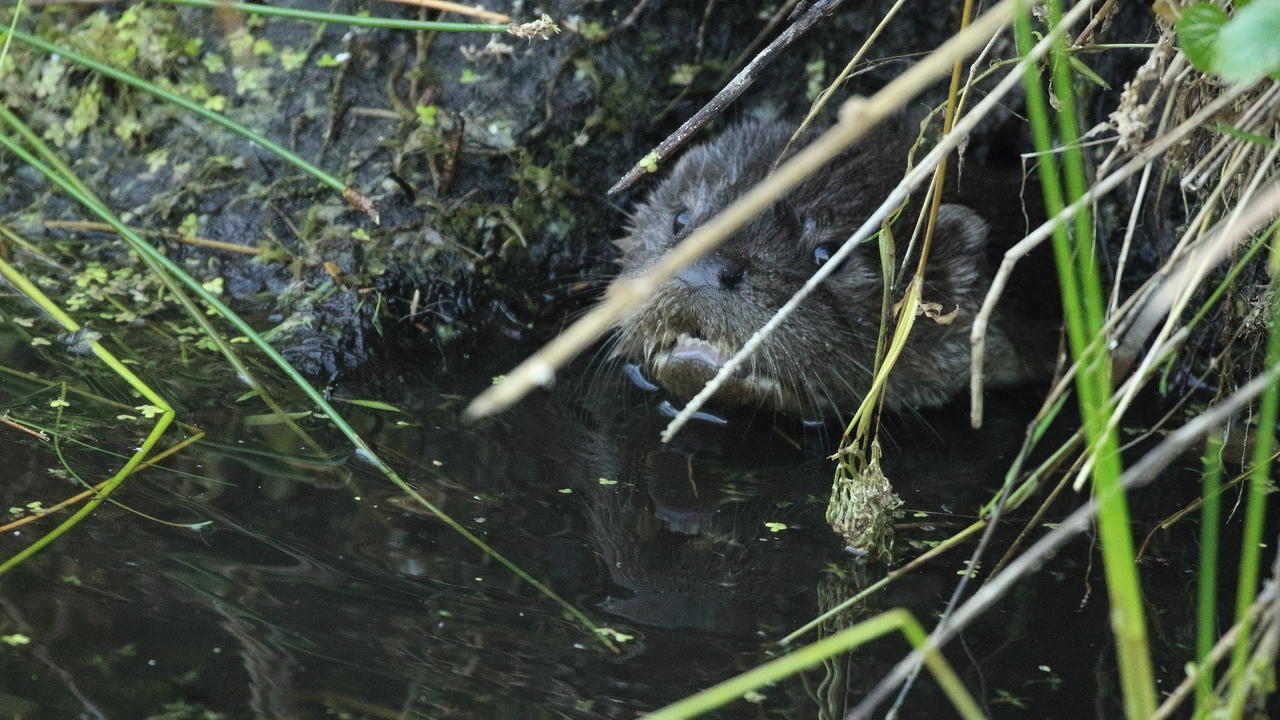
M 0 325 L 4 368 L 141 404 L 95 359 L 56 341 L 32 347 L 28 334 L 41 327 Z M 122 506 L 102 505 L 0 578 L 0 635 L 29 639 L 0 646 L 3 717 L 635 717 L 760 664 L 774 641 L 886 570 L 860 566 L 826 528 L 822 450 L 832 441 L 814 430 L 758 418 L 663 446 L 657 398 L 627 391 L 612 370 L 461 425 L 461 406 L 515 355 L 451 368 L 444 386 L 425 379 L 442 373 L 406 365 L 329 388 L 335 400 L 398 407 L 337 404 L 431 502 L 630 638 L 612 653 L 323 420 L 298 418 L 296 433 L 243 397 L 247 387 L 210 354 L 160 372 L 157 352 L 173 355 L 122 351 L 207 436 L 127 480 L 114 496 Z M 259 372 L 287 409 L 306 407 Z M 0 374 L 0 409 L 61 436 L 55 450 L 0 428 L 4 509 L 78 492 L 72 471 L 105 479 L 150 428 L 118 418 L 136 411 L 78 396 L 56 425 L 58 393 Z M 1023 427 L 1021 411 L 1006 414 L 997 407 L 982 433 L 964 427 L 963 411 L 892 420 L 887 469 L 906 501 L 904 555 L 970 521 L 998 487 Z M 0 553 L 54 525 L 10 530 Z M 1144 565 L 1166 688 L 1193 632 L 1189 532 L 1160 536 Z M 970 550 L 808 641 L 897 606 L 929 625 Z M 991 715 L 1117 712 L 1105 587 L 1088 551 L 1079 543 L 1055 559 L 952 643 L 948 657 Z M 841 717 L 905 650 L 899 637 L 881 639 L 716 716 Z M 947 707 L 923 679 L 902 716 L 952 716 Z

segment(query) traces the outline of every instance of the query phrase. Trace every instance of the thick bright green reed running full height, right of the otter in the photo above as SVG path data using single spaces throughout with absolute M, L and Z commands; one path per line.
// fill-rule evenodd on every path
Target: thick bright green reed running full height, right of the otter
M 1061 18 L 1061 0 L 1050 0 L 1050 22 Z M 1015 20 L 1019 51 L 1032 47 L 1030 14 L 1021 4 Z M 1059 138 L 1064 151 L 1066 190 L 1055 158 L 1052 132 L 1044 91 L 1034 68 L 1028 68 L 1027 110 L 1036 149 L 1041 158 L 1041 184 L 1050 215 L 1056 215 L 1065 202 L 1075 201 L 1087 184 L 1083 158 L 1075 147 L 1079 140 L 1075 120 L 1074 86 L 1066 46 L 1052 47 L 1055 91 L 1059 100 Z M 1111 415 L 1110 359 L 1102 342 L 1093 342 L 1102 332 L 1103 297 L 1093 258 L 1092 220 L 1078 214 L 1074 242 L 1062 225 L 1053 228 L 1053 255 L 1062 291 L 1062 315 L 1066 322 L 1071 355 L 1079 364 L 1076 392 L 1080 415 L 1089 446 L 1094 448 L 1093 493 L 1100 500 L 1098 532 L 1102 561 L 1111 603 L 1111 630 L 1115 635 L 1117 666 L 1124 691 L 1125 715 L 1130 719 L 1151 717 L 1156 708 L 1155 674 L 1147 643 L 1147 623 L 1142 607 L 1142 588 L 1134 565 L 1133 537 L 1129 529 L 1129 507 L 1123 492 L 1116 492 L 1120 478 L 1120 455 L 1116 433 L 1108 429 Z

